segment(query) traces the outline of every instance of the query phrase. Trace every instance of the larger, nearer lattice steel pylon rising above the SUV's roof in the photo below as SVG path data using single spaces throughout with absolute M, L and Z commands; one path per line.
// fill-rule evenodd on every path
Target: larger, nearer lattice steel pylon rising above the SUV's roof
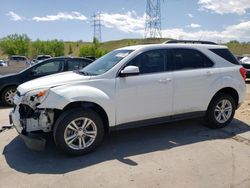
M 161 38 L 161 0 L 147 0 L 145 38 Z

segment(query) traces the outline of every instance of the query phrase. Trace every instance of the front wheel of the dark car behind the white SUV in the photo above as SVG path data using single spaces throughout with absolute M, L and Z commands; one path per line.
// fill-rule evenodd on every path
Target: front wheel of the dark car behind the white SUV
M 14 96 L 16 93 L 16 86 L 10 86 L 3 90 L 1 95 L 1 101 L 5 106 L 14 105 Z

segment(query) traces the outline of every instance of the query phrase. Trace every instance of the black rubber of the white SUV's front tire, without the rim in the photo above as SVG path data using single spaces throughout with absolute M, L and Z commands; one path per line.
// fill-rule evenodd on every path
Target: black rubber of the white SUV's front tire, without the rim
M 74 119 L 80 118 L 80 117 L 86 117 L 91 119 L 97 127 L 97 136 L 95 141 L 87 148 L 82 150 L 74 150 L 70 148 L 64 140 L 64 131 L 67 127 L 67 125 L 73 121 Z M 72 110 L 65 111 L 56 121 L 55 126 L 53 128 L 53 136 L 54 141 L 57 147 L 63 151 L 66 154 L 72 155 L 72 156 L 79 156 L 87 154 L 94 149 L 98 145 L 100 145 L 104 138 L 104 125 L 103 121 L 100 118 L 100 116 L 92 110 L 82 110 L 79 108 L 75 108 Z

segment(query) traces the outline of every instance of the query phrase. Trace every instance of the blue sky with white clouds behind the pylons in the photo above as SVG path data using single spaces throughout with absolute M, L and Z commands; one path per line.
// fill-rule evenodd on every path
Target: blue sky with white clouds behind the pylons
M 143 38 L 146 0 L 0 0 L 0 38 L 92 41 L 94 13 L 102 41 Z M 250 41 L 250 0 L 162 0 L 162 36 Z

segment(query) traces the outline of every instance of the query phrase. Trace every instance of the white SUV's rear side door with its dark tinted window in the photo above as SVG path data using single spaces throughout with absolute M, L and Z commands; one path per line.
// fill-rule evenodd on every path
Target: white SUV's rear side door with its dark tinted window
M 209 88 L 214 81 L 213 62 L 194 49 L 171 50 L 174 63 L 174 114 L 200 112 L 209 103 Z

